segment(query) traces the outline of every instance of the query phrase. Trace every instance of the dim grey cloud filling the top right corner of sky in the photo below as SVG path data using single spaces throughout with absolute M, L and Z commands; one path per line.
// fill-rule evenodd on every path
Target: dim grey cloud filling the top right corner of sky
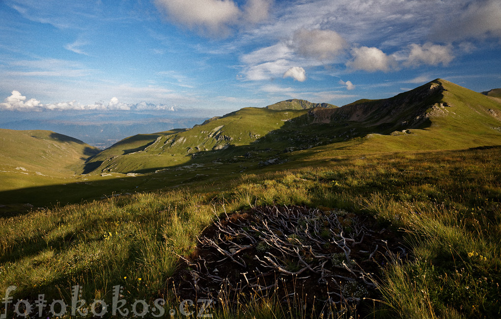
M 501 2 L 472 1 L 456 15 L 443 16 L 432 33 L 433 38 L 441 41 L 501 38 Z

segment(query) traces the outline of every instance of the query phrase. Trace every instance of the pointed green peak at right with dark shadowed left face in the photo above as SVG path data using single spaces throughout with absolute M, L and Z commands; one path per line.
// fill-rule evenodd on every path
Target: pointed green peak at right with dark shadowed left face
M 350 128 L 349 134 L 358 138 L 354 146 L 336 153 L 501 144 L 501 101 L 441 79 L 389 99 L 314 109 L 310 114 L 314 122 Z

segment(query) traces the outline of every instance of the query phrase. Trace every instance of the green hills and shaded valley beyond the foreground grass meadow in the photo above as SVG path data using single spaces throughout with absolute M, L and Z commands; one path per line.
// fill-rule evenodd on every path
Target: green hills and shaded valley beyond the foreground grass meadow
M 12 158 L 16 152 L 3 160 L 11 166 L 2 169 L 6 182 L 0 203 L 78 202 L 215 183 L 228 174 L 316 165 L 353 155 L 500 145 L 500 115 L 497 99 L 437 79 L 392 98 L 359 100 L 340 108 L 244 108 L 191 129 L 132 136 L 94 156 L 62 156 L 48 151 L 55 146 L 18 141 L 10 148 L 28 147 L 17 161 Z M 83 147 L 73 140 L 66 143 Z M 19 190 L 8 191 L 13 189 Z

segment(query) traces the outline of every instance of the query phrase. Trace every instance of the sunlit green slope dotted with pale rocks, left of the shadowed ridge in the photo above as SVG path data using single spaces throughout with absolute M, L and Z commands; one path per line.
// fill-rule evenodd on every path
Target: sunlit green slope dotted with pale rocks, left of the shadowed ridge
M 100 162 L 94 169 L 96 173 L 128 173 L 182 165 L 191 161 L 193 154 L 201 152 L 216 153 L 213 160 L 220 156 L 233 156 L 236 147 L 256 143 L 271 132 L 283 128 L 288 121 L 306 113 L 304 110 L 244 108 L 183 132 L 158 136 L 153 143 L 131 154 L 110 156 L 105 150 L 90 159 L 88 165 Z M 124 140 L 124 145 L 127 142 Z M 267 147 L 270 146 L 274 145 Z M 129 145 L 126 147 L 133 148 Z M 238 148 L 237 151 L 240 155 L 245 153 L 244 148 Z

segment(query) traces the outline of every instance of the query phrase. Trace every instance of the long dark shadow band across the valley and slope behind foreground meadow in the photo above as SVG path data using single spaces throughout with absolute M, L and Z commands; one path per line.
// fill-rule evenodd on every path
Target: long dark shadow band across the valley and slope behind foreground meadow
M 65 181 L 66 184 L 2 191 L 0 192 L 0 203 L 30 203 L 38 207 L 51 207 L 58 204 L 65 205 L 100 199 L 114 193 L 125 194 L 136 191 L 154 191 L 176 185 L 225 182 L 245 173 L 290 169 L 293 165 L 301 165 L 301 162 L 306 158 L 308 158 L 308 165 L 316 165 L 317 160 L 312 159 L 312 153 L 298 153 L 296 151 L 338 142 L 346 143 L 370 133 L 390 134 L 395 125 L 398 125 L 396 123 L 380 123 L 377 126 L 364 127 L 360 123 L 349 121 L 331 124 L 312 123 L 312 121 L 311 115 L 305 114 L 286 122 L 280 129 L 271 131 L 248 145 L 228 146 L 222 150 L 200 151 L 194 155 L 187 154 L 191 158 L 182 164 L 131 171 L 148 175 L 137 177 L 120 175 L 116 178 L 108 177 L 102 181 L 85 182 L 82 177 L 82 179 L 75 179 L 74 182 Z M 374 132 L 374 130 L 379 131 Z M 76 139 L 57 133 L 53 137 L 78 143 Z M 353 140 L 353 143 L 349 145 L 339 145 L 339 147 L 333 145 L 332 149 L 346 150 L 360 143 L 362 142 Z M 87 150 L 87 152 L 91 152 L 91 150 Z M 277 160 L 270 163 L 269 161 L 273 159 Z M 318 163 L 325 161 L 326 159 L 318 159 Z M 214 162 L 218 164 L 216 165 Z M 91 173 L 101 163 L 102 161 L 87 163 L 84 174 Z M 154 172 L 157 170 L 162 170 L 162 172 L 155 174 Z

